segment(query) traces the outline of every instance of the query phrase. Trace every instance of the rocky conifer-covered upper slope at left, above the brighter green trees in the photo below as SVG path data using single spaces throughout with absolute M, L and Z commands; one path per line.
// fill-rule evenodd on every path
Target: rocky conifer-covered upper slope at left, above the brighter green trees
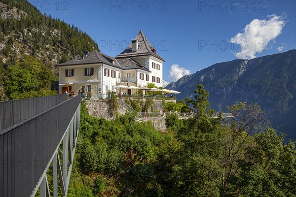
M 52 66 L 99 50 L 86 33 L 41 14 L 27 0 L 0 0 L 0 62 L 9 66 L 25 55 Z

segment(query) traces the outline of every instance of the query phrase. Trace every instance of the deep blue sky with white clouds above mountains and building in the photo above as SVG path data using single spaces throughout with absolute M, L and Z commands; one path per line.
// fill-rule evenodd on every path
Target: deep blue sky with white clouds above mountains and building
M 168 82 L 216 63 L 296 49 L 295 0 L 29 1 L 113 57 L 142 29 L 166 61 Z

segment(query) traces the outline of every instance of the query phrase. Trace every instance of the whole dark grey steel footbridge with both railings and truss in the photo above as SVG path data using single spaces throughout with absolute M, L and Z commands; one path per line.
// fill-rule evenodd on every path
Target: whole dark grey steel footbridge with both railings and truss
M 58 189 L 67 196 L 80 100 L 64 94 L 0 102 L 0 197 L 57 197 Z

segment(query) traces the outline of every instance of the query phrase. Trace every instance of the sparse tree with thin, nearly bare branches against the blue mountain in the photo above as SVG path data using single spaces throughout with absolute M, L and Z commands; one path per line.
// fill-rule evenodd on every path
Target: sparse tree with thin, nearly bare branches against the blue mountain
M 242 158 L 245 148 L 252 142 L 250 133 L 266 128 L 268 124 L 265 111 L 255 104 L 237 102 L 228 107 L 228 112 L 233 115 L 228 124 L 224 126 L 225 158 L 222 160 L 222 188 L 226 193 L 228 180 L 232 173 L 237 171 L 237 161 Z

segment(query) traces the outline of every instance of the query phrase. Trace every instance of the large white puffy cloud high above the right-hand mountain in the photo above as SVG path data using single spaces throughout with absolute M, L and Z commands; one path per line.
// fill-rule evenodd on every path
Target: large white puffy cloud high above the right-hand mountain
M 270 40 L 275 39 L 282 33 L 285 26 L 285 17 L 275 14 L 269 15 L 267 19 L 254 19 L 246 25 L 242 33 L 237 33 L 230 39 L 231 43 L 239 45 L 239 52 L 235 53 L 237 58 L 256 58 L 256 53 L 261 53 L 266 49 Z

